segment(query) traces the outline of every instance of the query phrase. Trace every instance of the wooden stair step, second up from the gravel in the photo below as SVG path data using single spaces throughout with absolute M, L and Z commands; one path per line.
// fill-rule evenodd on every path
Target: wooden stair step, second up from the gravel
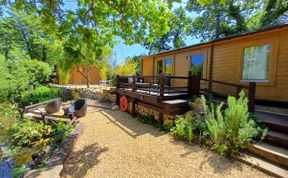
M 288 169 L 288 150 L 270 145 L 268 143 L 257 143 L 248 148 L 249 152 L 275 162 Z

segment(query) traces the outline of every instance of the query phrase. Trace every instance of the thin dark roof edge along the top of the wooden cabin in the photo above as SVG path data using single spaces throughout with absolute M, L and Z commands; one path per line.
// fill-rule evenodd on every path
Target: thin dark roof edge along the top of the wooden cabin
M 215 42 L 231 40 L 231 39 L 235 39 L 235 38 L 239 38 L 239 37 L 243 37 L 243 36 L 254 35 L 254 34 L 261 33 L 261 32 L 272 31 L 272 30 L 275 30 L 275 29 L 280 29 L 280 28 L 285 28 L 285 27 L 288 27 L 288 24 L 274 25 L 274 26 L 262 28 L 262 29 L 259 29 L 259 30 L 256 30 L 256 31 L 252 31 L 252 32 L 244 32 L 244 33 L 240 33 L 240 34 L 229 35 L 229 36 L 226 36 L 226 37 L 223 37 L 223 38 L 210 40 L 210 41 L 203 42 L 203 43 L 197 43 L 197 44 L 185 46 L 185 47 L 182 47 L 182 48 L 177 48 L 177 49 L 173 49 L 173 50 L 168 50 L 168 51 L 163 51 L 163 52 L 159 52 L 159 53 L 143 56 L 142 59 L 144 59 L 146 57 L 164 55 L 164 54 L 167 54 L 167 53 L 181 51 L 181 50 L 189 49 L 189 48 L 192 48 L 192 47 L 204 46 L 204 45 L 212 44 L 212 43 L 215 43 Z

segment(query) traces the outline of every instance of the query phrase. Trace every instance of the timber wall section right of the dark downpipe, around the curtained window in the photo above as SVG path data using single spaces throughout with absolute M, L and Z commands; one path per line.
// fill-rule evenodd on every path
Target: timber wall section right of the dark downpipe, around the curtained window
M 240 82 L 242 73 L 243 48 L 272 43 L 269 82 L 256 84 L 256 98 L 288 101 L 288 29 L 254 34 L 243 38 L 227 40 L 214 45 L 212 78 L 231 83 Z M 221 94 L 236 94 L 236 89 L 213 84 L 212 91 Z

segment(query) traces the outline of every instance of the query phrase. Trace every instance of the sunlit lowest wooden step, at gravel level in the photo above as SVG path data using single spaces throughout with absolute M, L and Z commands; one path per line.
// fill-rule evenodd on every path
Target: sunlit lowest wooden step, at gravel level
M 281 166 L 278 166 L 277 164 L 266 161 L 264 158 L 260 158 L 249 153 L 242 153 L 239 156 L 234 156 L 234 158 L 240 161 L 243 161 L 249 165 L 252 165 L 257 169 L 260 169 L 263 172 L 266 172 L 267 174 L 270 174 L 276 177 L 281 177 L 281 178 L 288 177 L 287 169 Z

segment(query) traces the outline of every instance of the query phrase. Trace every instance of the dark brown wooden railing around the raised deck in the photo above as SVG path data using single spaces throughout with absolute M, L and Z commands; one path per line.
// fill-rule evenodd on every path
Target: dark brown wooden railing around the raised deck
M 171 86 L 172 80 L 186 80 L 185 86 Z M 149 81 L 149 82 L 147 82 Z M 234 87 L 237 94 L 242 89 L 248 90 L 248 110 L 249 112 L 254 112 L 254 103 L 255 103 L 255 93 L 256 93 L 256 84 L 255 82 L 249 82 L 248 86 L 240 85 L 235 83 L 229 83 L 219 80 L 211 80 L 201 78 L 198 75 L 192 75 L 191 72 L 188 73 L 188 76 L 172 76 L 172 75 L 154 75 L 154 76 L 117 76 L 116 78 L 116 87 L 119 88 L 129 88 L 132 92 L 138 90 L 145 91 L 148 94 L 153 93 L 159 98 L 159 101 L 164 100 L 165 94 L 171 93 L 187 93 L 188 97 L 198 96 L 201 89 L 201 81 L 208 82 L 210 86 L 212 84 L 220 84 L 228 87 Z M 185 82 L 184 82 L 185 83 Z M 211 89 L 206 90 L 207 93 L 211 93 Z M 118 101 L 117 96 L 117 101 Z

